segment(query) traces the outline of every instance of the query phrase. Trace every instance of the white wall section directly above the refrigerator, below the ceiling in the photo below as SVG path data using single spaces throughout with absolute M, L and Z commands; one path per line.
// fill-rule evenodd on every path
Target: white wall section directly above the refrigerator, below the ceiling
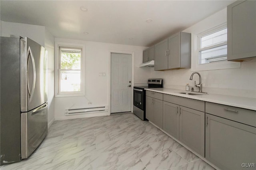
M 45 27 L 1 21 L 1 36 L 10 37 L 10 35 L 28 37 L 44 46 Z

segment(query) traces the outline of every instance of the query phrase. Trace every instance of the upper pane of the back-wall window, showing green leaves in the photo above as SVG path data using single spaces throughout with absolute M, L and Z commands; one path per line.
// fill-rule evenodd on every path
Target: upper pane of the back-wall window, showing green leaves
M 80 49 L 61 49 L 61 69 L 81 69 Z

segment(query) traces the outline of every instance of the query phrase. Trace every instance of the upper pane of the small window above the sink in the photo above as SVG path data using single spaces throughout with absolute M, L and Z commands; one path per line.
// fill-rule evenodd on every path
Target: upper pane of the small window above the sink
M 227 41 L 227 28 L 209 34 L 207 36 L 203 36 L 201 38 L 201 48 L 208 47 L 210 45 L 215 45 L 218 43 Z

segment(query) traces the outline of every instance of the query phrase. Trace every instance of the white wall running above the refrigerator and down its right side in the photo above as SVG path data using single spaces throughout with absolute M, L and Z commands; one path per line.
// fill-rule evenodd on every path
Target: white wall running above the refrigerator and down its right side
M 44 26 L 1 21 L 1 36 L 28 37 L 48 50 L 48 125 L 54 121 L 54 37 Z

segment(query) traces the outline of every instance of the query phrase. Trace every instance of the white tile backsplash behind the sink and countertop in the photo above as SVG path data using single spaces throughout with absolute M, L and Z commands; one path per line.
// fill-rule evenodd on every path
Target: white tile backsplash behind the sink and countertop
M 243 62 L 240 68 L 198 71 L 202 77 L 202 91 L 223 95 L 256 98 L 256 61 Z M 172 71 L 154 71 L 151 68 L 150 78 L 163 78 L 164 87 L 185 90 L 186 83 L 194 87 L 199 82 L 198 75 L 193 76 L 191 69 Z M 194 87 L 194 91 L 198 88 Z

